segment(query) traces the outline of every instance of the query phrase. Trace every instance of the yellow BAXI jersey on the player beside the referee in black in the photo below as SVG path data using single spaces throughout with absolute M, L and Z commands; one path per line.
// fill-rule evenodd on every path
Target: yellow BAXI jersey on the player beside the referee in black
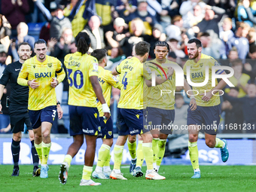
M 44 62 L 39 62 L 34 56 L 23 63 L 17 83 L 28 86 L 28 81 L 35 79 L 39 84 L 35 89 L 29 87 L 29 110 L 38 111 L 47 106 L 56 105 L 55 89 L 50 86 L 55 75 L 59 83 L 65 78 L 62 63 L 53 56 L 46 56 Z

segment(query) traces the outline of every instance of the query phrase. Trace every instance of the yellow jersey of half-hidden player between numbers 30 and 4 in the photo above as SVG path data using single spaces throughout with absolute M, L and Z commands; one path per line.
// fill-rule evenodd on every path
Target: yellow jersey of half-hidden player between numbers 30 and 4
M 102 93 L 105 99 L 105 102 L 110 105 L 111 99 L 111 89 L 112 86 L 115 88 L 121 88 L 122 84 L 116 77 L 114 77 L 110 71 L 103 69 L 99 66 L 99 76 L 98 76 L 99 84 L 102 87 Z M 103 117 L 102 104 L 97 100 L 97 108 L 99 111 L 99 117 Z

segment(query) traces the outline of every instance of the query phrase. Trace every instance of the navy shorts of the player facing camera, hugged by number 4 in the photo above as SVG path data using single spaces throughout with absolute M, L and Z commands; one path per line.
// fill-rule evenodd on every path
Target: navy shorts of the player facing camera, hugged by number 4
M 150 130 L 158 129 L 160 133 L 172 134 L 175 110 L 148 107 L 148 126 Z

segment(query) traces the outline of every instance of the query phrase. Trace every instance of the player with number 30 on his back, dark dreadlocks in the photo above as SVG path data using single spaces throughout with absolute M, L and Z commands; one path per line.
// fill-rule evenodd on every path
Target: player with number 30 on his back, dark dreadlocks
M 69 146 L 65 159 L 60 166 L 59 181 L 66 184 L 72 158 L 86 140 L 84 169 L 80 185 L 99 185 L 90 179 L 96 151 L 96 139 L 100 129 L 99 112 L 96 98 L 102 103 L 102 113 L 106 120 L 110 117 L 108 104 L 99 85 L 99 64 L 96 58 L 87 54 L 90 37 L 86 32 L 79 32 L 75 37 L 78 51 L 65 56 L 65 66 L 69 79 L 69 119 L 70 135 L 74 142 Z

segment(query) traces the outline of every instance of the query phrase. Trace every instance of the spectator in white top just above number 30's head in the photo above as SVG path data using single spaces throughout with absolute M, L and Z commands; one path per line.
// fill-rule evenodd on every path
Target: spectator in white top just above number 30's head
M 100 26 L 98 16 L 94 15 L 93 17 L 90 17 L 88 25 L 84 27 L 84 32 L 87 32 L 90 36 L 90 48 L 93 50 L 105 48 L 104 32 Z

